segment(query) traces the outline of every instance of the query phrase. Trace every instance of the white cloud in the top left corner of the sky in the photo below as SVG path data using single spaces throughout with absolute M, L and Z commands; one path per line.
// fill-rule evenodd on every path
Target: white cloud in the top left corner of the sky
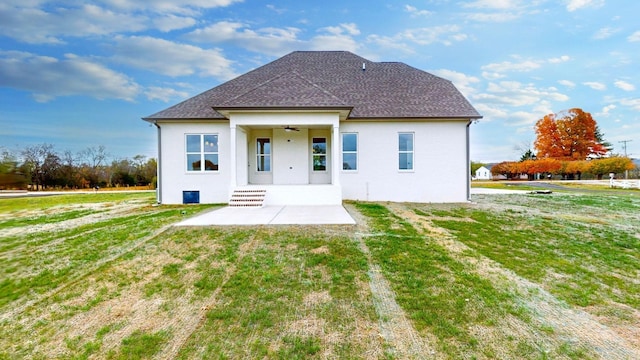
M 64 43 L 65 37 L 109 35 L 148 28 L 144 16 L 118 13 L 96 5 L 38 8 L 0 5 L 0 33 L 32 44 Z

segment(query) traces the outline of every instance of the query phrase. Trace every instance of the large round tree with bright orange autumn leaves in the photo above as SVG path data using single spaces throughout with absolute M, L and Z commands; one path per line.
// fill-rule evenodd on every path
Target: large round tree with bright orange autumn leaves
M 535 128 L 538 158 L 585 160 L 591 155 L 601 157 L 608 151 L 596 121 L 582 109 L 546 115 Z

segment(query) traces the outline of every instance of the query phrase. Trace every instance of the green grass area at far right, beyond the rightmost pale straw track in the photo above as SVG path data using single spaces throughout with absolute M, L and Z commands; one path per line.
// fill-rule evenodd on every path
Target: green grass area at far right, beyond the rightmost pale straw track
M 640 307 L 640 285 L 634 281 L 640 271 L 640 223 L 620 215 L 639 213 L 640 201 L 613 196 L 529 201 L 554 209 L 556 215 L 462 209 L 448 214 L 460 220 L 433 222 L 569 304 L 585 307 L 613 301 Z M 564 214 L 557 213 L 560 209 Z M 574 214 L 575 209 L 583 210 Z

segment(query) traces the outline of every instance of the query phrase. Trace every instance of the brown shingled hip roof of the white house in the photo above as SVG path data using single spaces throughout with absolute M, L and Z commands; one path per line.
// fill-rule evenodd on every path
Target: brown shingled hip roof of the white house
M 215 109 L 318 108 L 351 109 L 348 119 L 481 117 L 450 81 L 406 64 L 346 51 L 296 51 L 144 119 L 223 119 Z

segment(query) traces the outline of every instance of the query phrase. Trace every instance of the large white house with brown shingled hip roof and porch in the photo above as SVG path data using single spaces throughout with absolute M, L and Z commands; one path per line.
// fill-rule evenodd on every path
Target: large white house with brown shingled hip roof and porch
M 293 52 L 143 118 L 158 131 L 158 201 L 463 202 L 469 126 L 448 80 L 343 51 Z

